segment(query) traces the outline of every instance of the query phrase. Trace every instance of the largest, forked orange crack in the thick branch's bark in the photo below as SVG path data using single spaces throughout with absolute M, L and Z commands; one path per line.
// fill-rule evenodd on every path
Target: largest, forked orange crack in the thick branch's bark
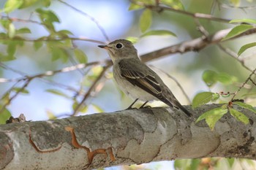
M 66 131 L 69 131 L 70 134 L 71 134 L 71 137 L 72 137 L 72 145 L 79 149 L 79 148 L 82 148 L 84 150 L 86 150 L 87 152 L 87 155 L 88 155 L 88 161 L 89 161 L 89 165 L 92 163 L 93 159 L 94 159 L 94 156 L 97 155 L 97 154 L 105 154 L 105 155 L 108 155 L 108 153 L 106 152 L 106 149 L 97 149 L 97 150 L 94 150 L 94 151 L 90 151 L 88 147 L 85 147 L 85 146 L 81 146 L 79 143 L 78 143 L 78 140 L 76 139 L 76 136 L 75 136 L 75 130 L 74 128 L 70 127 L 70 126 L 67 126 L 65 127 L 65 130 Z M 113 151 L 112 151 L 112 148 L 111 147 L 108 147 L 107 150 L 110 150 L 110 159 L 111 161 L 115 161 L 115 157 L 113 155 Z

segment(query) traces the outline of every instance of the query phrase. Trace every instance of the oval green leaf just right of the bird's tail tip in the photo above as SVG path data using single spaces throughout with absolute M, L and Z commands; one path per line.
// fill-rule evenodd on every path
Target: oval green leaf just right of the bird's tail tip
M 214 93 L 211 92 L 202 92 L 197 93 L 197 95 L 193 98 L 192 108 L 200 107 L 203 104 L 207 104 L 213 98 Z

